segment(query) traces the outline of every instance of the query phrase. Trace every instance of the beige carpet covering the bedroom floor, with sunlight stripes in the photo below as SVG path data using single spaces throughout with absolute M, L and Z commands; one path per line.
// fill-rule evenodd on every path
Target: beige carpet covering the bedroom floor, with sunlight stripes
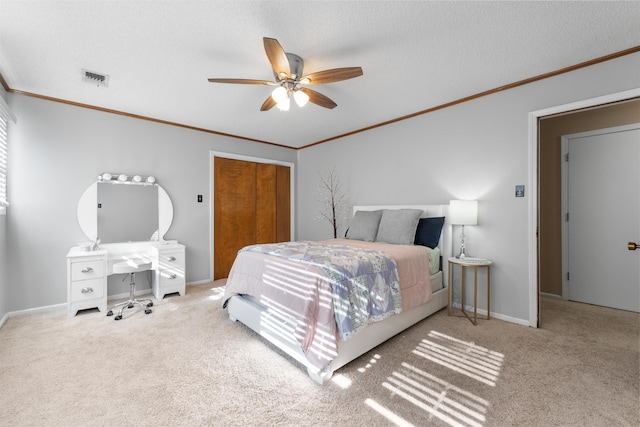
M 446 310 L 319 386 L 192 286 L 144 315 L 10 318 L 3 426 L 637 426 L 638 314 L 543 299 L 542 328 Z

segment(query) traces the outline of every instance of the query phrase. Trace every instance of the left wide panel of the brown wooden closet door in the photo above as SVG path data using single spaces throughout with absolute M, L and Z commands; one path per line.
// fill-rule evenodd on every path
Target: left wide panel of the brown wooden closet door
M 256 163 L 214 158 L 214 280 L 256 239 Z

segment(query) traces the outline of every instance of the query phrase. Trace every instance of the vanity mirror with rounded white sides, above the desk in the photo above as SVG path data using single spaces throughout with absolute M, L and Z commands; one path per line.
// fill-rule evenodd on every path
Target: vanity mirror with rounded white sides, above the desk
M 98 181 L 78 202 L 78 224 L 91 241 L 162 241 L 172 221 L 171 199 L 157 184 Z

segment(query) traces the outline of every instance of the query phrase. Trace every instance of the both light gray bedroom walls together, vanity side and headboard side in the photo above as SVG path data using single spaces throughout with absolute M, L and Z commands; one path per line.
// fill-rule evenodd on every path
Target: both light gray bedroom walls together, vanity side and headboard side
M 187 280 L 207 280 L 215 150 L 297 161 L 298 239 L 332 235 L 315 220 L 318 171 L 330 168 L 351 204 L 477 198 L 479 225 L 467 227 L 467 252 L 495 262 L 492 312 L 528 323 L 527 221 L 536 195 L 527 188 L 526 197 L 514 197 L 529 178 L 528 114 L 638 88 L 638 69 L 640 54 L 628 55 L 298 152 L 9 94 L 18 124 L 10 127 L 6 225 L 0 217 L 0 267 L 10 266 L 0 273 L 0 315 L 3 298 L 7 311 L 66 301 L 65 255 L 86 240 L 76 204 L 104 171 L 158 178 L 175 208 L 166 238 L 186 245 Z

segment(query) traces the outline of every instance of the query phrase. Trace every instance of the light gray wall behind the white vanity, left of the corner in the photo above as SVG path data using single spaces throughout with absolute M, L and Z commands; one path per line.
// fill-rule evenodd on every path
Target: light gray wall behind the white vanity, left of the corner
M 200 282 L 210 278 L 210 151 L 296 162 L 291 149 L 18 94 L 8 98 L 18 118 L 10 129 L 10 268 L 8 285 L 0 288 L 8 293 L 9 311 L 66 302 L 66 254 L 87 240 L 77 203 L 100 173 L 157 178 L 174 205 L 165 239 L 186 246 L 187 282 Z M 109 294 L 126 292 L 115 276 L 109 283 Z

